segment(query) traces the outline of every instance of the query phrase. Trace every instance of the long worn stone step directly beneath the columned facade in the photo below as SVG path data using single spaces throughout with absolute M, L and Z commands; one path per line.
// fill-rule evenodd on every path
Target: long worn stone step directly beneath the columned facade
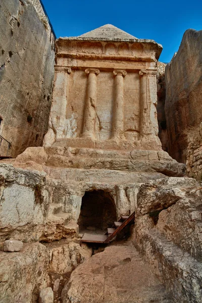
M 158 172 L 167 176 L 183 176 L 185 171 L 184 164 L 173 160 L 163 150 L 104 150 L 61 146 L 28 147 L 12 163 L 30 161 L 47 167 Z

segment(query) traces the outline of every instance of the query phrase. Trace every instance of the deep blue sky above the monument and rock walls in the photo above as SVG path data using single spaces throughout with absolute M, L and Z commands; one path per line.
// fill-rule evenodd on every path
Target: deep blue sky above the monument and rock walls
M 202 29 L 202 0 L 42 0 L 57 37 L 78 36 L 105 24 L 164 47 L 170 62 L 188 28 Z

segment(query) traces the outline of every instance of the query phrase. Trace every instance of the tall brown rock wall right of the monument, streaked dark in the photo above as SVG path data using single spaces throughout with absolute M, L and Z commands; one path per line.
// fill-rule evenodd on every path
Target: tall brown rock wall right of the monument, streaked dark
M 185 31 L 179 50 L 166 66 L 165 115 L 168 153 L 186 162 L 186 131 L 197 127 L 202 117 L 202 31 Z

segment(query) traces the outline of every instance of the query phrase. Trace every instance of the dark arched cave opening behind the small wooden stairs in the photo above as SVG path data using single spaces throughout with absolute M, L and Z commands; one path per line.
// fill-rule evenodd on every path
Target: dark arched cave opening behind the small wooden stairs
M 86 191 L 78 219 L 80 233 L 102 233 L 117 220 L 114 199 L 104 190 Z

